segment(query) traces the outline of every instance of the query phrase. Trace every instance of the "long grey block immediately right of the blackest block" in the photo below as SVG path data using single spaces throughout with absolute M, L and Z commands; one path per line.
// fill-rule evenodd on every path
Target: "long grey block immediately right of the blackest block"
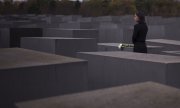
M 73 38 L 95 38 L 98 40 L 97 29 L 60 29 L 47 28 L 43 31 L 44 37 L 73 37 Z

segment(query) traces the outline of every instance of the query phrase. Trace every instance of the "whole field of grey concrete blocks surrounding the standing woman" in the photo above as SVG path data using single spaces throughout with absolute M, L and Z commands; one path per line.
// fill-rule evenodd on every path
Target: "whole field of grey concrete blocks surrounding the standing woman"
M 152 103 L 154 107 L 159 105 L 163 108 L 169 106 L 178 108 L 180 107 L 178 95 L 174 94 L 179 94 L 179 89 L 173 87 L 180 87 L 179 19 L 178 17 L 146 17 L 149 27 L 148 53 L 138 54 L 133 52 L 132 47 L 123 50 L 118 48 L 120 43 L 132 44 L 131 37 L 135 24 L 133 15 L 82 17 L 30 14 L 1 17 L 0 107 L 14 108 L 18 102 L 16 104 L 18 108 L 35 108 L 35 104 L 38 108 L 56 108 L 61 104 L 64 108 L 65 106 L 70 108 L 69 99 L 75 101 L 73 97 L 76 94 L 68 95 L 67 98 L 66 96 L 54 98 L 58 105 L 51 103 L 49 97 L 94 90 L 87 94 L 92 95 L 92 100 L 96 100 L 102 98 L 97 95 L 99 92 L 97 89 L 102 88 L 102 91 L 100 90 L 102 94 L 106 94 L 107 91 L 111 94 L 109 101 L 106 100 L 107 97 L 103 97 L 102 101 L 111 103 L 116 99 L 116 95 L 113 94 L 119 90 L 116 87 L 120 86 L 118 91 L 120 95 L 117 95 L 120 98 L 117 102 L 121 104 L 114 103 L 117 105 L 114 108 L 122 105 L 131 107 L 130 104 L 125 105 L 123 104 L 125 102 L 121 101 L 124 100 L 121 93 L 124 94 L 131 88 L 131 92 L 126 92 L 129 96 L 127 100 L 134 102 L 133 97 L 139 96 L 140 104 L 132 104 L 137 105 L 137 108 L 151 106 L 148 101 L 154 102 L 156 97 L 154 92 L 159 97 L 156 98 L 158 100 L 156 104 Z M 146 81 L 156 83 L 142 83 Z M 127 88 L 122 86 L 134 83 L 138 84 Z M 140 88 L 144 92 L 140 92 L 142 91 Z M 86 93 L 77 95 L 81 99 L 71 107 L 92 105 L 92 108 L 96 108 L 102 105 L 102 101 L 91 104 Z M 167 103 L 166 96 L 171 97 L 172 100 L 176 99 L 177 103 L 174 101 Z M 37 103 L 36 101 L 21 102 L 41 98 L 47 99 Z M 144 98 L 148 100 L 144 101 Z M 78 103 L 79 101 L 85 102 L 81 104 Z M 167 105 L 161 104 L 164 102 Z M 102 106 L 108 107 L 108 105 Z

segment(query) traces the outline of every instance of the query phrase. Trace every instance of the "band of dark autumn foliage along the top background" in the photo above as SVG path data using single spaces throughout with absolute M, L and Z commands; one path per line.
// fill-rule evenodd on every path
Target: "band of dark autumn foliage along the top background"
M 177 0 L 89 0 L 77 4 L 69 0 L 0 1 L 0 14 L 81 14 L 83 16 L 124 15 L 135 11 L 147 15 L 180 16 Z

